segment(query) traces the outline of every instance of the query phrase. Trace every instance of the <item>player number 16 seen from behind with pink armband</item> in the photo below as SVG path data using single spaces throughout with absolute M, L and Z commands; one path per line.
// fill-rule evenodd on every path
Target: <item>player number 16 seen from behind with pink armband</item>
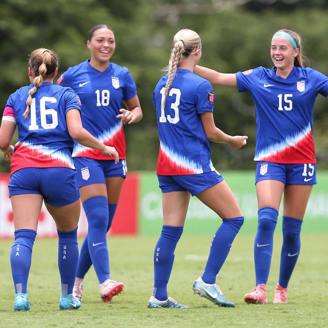
M 72 159 L 73 139 L 107 156 L 115 148 L 104 145 L 82 128 L 80 100 L 70 88 L 53 85 L 58 57 L 47 49 L 30 55 L 30 86 L 10 95 L 0 128 L 0 150 L 11 159 L 9 196 L 15 241 L 10 263 L 15 286 L 15 311 L 30 310 L 27 280 L 38 218 L 44 201 L 58 232 L 61 277 L 60 309 L 78 309 L 72 290 L 78 261 L 77 222 L 80 196 Z M 27 107 L 26 107 L 27 105 Z M 10 145 L 16 125 L 19 142 Z M 15 148 L 15 152 L 14 152 Z

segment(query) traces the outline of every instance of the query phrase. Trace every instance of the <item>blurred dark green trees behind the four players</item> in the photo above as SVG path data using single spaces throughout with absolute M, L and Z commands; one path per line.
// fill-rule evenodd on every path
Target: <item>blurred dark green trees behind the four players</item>
M 90 58 L 89 30 L 107 24 L 115 32 L 111 61 L 126 66 L 137 85 L 143 119 L 125 126 L 129 170 L 155 170 L 158 155 L 153 91 L 168 64 L 174 34 L 195 30 L 202 39 L 199 65 L 233 73 L 273 66 L 272 35 L 280 29 L 297 31 L 309 65 L 328 75 L 328 3 L 326 0 L 5 0 L 0 4 L 0 100 L 29 85 L 28 55 L 53 49 L 60 56 L 58 77 L 68 67 Z M 57 78 L 55 78 L 56 81 Z M 214 86 L 216 126 L 229 134 L 248 135 L 247 146 L 232 149 L 211 143 L 218 170 L 254 169 L 255 111 L 248 93 Z M 314 137 L 320 169 L 328 168 L 327 99 L 318 96 Z M 17 133 L 13 143 L 17 142 Z M 0 172 L 10 165 L 2 156 Z

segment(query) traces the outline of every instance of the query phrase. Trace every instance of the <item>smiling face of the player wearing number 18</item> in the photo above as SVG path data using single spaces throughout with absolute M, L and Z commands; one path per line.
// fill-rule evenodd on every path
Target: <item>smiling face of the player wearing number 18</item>
M 115 36 L 113 31 L 107 28 L 94 31 L 91 41 L 87 41 L 87 46 L 91 51 L 92 63 L 108 63 L 115 51 Z

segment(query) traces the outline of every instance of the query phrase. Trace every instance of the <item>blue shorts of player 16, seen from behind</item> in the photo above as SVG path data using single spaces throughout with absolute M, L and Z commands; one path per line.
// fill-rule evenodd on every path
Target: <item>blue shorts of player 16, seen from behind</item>
M 24 194 L 42 195 L 52 206 L 64 206 L 80 198 L 76 171 L 66 167 L 24 168 L 11 174 L 9 197 Z

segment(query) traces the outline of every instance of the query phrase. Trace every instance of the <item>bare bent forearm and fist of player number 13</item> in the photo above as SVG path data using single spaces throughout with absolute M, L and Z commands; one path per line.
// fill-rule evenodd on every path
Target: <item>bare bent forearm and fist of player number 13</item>
M 207 139 L 214 142 L 223 142 L 228 144 L 232 148 L 240 148 L 246 145 L 247 135 L 229 135 L 221 131 L 215 126 L 213 113 L 205 112 L 200 114 L 202 120 L 203 129 Z

